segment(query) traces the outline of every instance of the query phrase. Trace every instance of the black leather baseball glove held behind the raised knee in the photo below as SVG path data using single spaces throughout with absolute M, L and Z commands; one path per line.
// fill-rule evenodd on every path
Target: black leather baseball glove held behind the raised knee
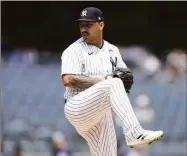
M 134 83 L 134 77 L 129 68 L 116 68 L 112 74 L 112 77 L 120 78 L 123 81 L 126 92 L 130 93 Z

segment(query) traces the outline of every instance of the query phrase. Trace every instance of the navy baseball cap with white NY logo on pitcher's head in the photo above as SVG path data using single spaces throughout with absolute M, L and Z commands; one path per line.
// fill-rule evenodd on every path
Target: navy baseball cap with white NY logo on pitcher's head
M 97 22 L 97 21 L 104 21 L 104 17 L 100 9 L 95 7 L 87 7 L 81 11 L 80 17 L 76 21 Z

